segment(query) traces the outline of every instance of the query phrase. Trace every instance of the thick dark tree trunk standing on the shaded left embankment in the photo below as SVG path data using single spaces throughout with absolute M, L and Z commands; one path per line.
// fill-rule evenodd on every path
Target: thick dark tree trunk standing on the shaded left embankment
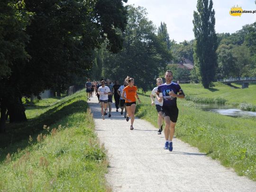
M 22 96 L 19 92 L 16 92 L 12 98 L 9 98 L 7 109 L 9 112 L 10 123 L 27 121 L 25 114 L 25 108 L 22 104 Z

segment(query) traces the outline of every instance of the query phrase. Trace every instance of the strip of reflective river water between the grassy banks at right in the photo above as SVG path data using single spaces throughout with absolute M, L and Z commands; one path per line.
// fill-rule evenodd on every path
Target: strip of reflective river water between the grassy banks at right
M 234 109 L 232 106 L 228 105 L 207 105 L 201 104 L 199 105 L 200 109 L 204 111 L 211 111 L 213 113 L 219 113 L 221 115 L 231 116 L 231 117 L 256 117 L 256 112 L 252 111 L 242 111 L 241 109 Z

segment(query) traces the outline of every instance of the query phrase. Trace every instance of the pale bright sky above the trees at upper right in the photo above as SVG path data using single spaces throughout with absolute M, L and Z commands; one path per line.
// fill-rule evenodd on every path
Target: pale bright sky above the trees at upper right
M 146 8 L 148 19 L 156 27 L 161 21 L 165 22 L 171 40 L 183 42 L 194 39 L 192 20 L 197 0 L 128 0 L 127 4 Z M 216 33 L 235 33 L 243 25 L 256 21 L 256 13 L 230 16 L 230 8 L 237 5 L 243 10 L 256 10 L 255 0 L 213 0 Z

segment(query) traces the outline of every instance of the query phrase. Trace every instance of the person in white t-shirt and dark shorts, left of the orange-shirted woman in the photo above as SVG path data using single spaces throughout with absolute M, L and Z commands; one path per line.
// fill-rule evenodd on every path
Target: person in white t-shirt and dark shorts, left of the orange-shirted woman
M 101 102 L 101 117 L 105 119 L 104 115 L 107 114 L 108 111 L 108 95 L 111 94 L 110 88 L 105 86 L 105 81 L 101 81 L 101 86 L 98 88 L 98 94 L 100 95 L 100 102 Z M 105 113 L 104 113 L 105 109 Z

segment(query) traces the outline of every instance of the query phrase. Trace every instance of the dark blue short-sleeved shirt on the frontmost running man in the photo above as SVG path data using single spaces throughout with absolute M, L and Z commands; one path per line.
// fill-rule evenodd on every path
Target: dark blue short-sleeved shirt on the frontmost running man
M 163 106 L 177 106 L 177 98 L 169 95 L 169 92 L 174 91 L 175 94 L 182 91 L 181 87 L 177 83 L 161 84 L 157 87 L 157 92 L 163 93 Z

